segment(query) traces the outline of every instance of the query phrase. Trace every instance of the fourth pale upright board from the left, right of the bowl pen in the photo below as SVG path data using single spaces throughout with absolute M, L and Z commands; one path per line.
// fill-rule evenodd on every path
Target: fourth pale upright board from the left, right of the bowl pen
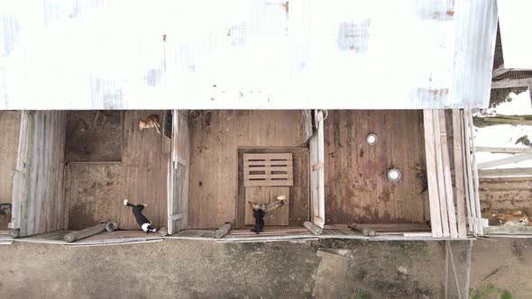
M 467 237 L 465 229 L 465 194 L 463 189 L 463 148 L 462 148 L 462 120 L 460 110 L 453 109 L 453 144 L 454 144 L 454 186 L 456 198 L 456 214 L 458 222 L 458 236 Z

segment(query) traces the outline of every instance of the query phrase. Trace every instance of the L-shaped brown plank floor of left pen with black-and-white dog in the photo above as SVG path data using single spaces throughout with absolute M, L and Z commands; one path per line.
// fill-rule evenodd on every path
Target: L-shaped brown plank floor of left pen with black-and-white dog
M 139 230 L 131 208 L 148 204 L 144 215 L 160 228 L 167 226 L 167 180 L 170 139 L 155 129 L 139 129 L 139 121 L 159 111 L 126 111 L 123 115 L 122 162 L 77 162 L 69 165 L 65 194 L 69 225 L 78 230 L 99 222 L 115 221 L 121 230 Z

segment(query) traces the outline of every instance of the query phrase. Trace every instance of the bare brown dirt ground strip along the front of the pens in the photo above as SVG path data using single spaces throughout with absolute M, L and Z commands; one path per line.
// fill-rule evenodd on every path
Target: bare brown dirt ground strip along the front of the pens
M 532 295 L 532 240 L 477 240 L 472 298 Z M 454 242 L 464 281 L 465 243 Z M 317 250 L 348 260 L 342 298 L 441 298 L 444 243 L 320 240 L 149 244 L 70 248 L 15 242 L 0 247 L 4 298 L 311 298 Z M 451 271 L 451 270 L 450 270 Z M 451 272 L 452 273 L 452 272 Z M 449 276 L 451 297 L 453 276 Z M 462 290 L 463 291 L 463 290 Z

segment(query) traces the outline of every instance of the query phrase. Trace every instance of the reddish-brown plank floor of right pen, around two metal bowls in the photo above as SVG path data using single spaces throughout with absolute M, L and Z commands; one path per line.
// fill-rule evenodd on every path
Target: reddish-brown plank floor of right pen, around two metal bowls
M 426 222 L 416 165 L 425 165 L 422 111 L 329 111 L 326 223 Z M 370 146 L 368 134 L 378 136 Z M 390 168 L 402 178 L 392 183 Z

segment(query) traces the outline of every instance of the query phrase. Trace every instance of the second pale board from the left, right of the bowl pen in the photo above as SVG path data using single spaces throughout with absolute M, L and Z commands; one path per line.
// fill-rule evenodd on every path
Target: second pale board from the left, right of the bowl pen
M 437 110 L 433 110 L 433 122 L 434 122 L 434 136 L 435 136 L 435 149 L 436 149 L 436 178 L 438 182 L 438 195 L 440 204 L 440 214 L 442 217 L 442 231 L 444 237 L 451 236 L 449 230 L 449 215 L 447 213 L 447 201 L 445 194 L 445 177 L 444 177 L 444 161 L 442 156 L 442 142 L 441 142 L 441 127 L 440 119 Z

